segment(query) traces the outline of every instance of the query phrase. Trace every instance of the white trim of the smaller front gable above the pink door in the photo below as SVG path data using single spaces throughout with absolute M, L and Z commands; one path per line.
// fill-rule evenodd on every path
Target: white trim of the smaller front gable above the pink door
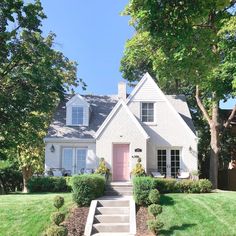
M 141 126 L 141 124 L 139 123 L 139 121 L 135 118 L 135 116 L 133 115 L 133 113 L 129 110 L 129 108 L 127 107 L 127 105 L 125 104 L 125 102 L 123 101 L 123 99 L 120 99 L 119 102 L 115 105 L 115 107 L 113 108 L 113 110 L 111 111 L 111 113 L 108 115 L 108 117 L 106 118 L 106 120 L 103 122 L 103 124 L 100 126 L 100 128 L 98 129 L 98 131 L 96 132 L 96 134 L 94 135 L 95 138 L 98 138 L 102 131 L 107 127 L 107 125 L 109 124 L 109 122 L 112 120 L 112 118 L 116 115 L 118 109 L 120 107 L 123 107 L 125 109 L 125 112 L 128 114 L 128 116 L 132 119 L 132 121 L 134 122 L 134 124 L 136 125 L 137 129 L 140 131 L 140 133 L 146 138 L 148 139 L 149 136 L 146 133 L 146 131 L 144 130 L 144 128 Z

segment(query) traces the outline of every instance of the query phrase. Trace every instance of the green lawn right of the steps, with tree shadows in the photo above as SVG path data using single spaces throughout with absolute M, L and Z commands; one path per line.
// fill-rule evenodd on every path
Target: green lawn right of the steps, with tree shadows
M 236 193 L 166 194 L 161 235 L 236 235 Z

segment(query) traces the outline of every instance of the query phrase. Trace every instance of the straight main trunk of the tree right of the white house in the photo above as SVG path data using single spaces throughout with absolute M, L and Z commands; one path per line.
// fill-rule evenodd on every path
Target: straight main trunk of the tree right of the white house
M 213 188 L 218 187 L 218 166 L 219 166 L 219 102 L 212 104 L 212 119 L 210 124 L 211 132 L 211 156 L 210 156 L 210 180 Z

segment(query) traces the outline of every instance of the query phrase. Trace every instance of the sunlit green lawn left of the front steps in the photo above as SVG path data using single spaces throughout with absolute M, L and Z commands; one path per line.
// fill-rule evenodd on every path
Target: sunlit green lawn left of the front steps
M 71 193 L 0 195 L 0 235 L 42 235 L 50 224 L 51 213 L 56 211 L 56 195 L 65 198 L 62 210 L 68 212 L 73 205 Z

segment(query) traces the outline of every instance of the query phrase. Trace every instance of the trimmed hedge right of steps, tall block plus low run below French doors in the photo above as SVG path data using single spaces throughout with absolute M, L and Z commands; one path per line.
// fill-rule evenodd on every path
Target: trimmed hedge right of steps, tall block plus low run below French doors
M 209 193 L 212 184 L 207 179 L 175 180 L 148 177 L 135 177 L 133 179 L 134 199 L 138 205 L 149 205 L 149 193 L 157 189 L 163 193 Z

